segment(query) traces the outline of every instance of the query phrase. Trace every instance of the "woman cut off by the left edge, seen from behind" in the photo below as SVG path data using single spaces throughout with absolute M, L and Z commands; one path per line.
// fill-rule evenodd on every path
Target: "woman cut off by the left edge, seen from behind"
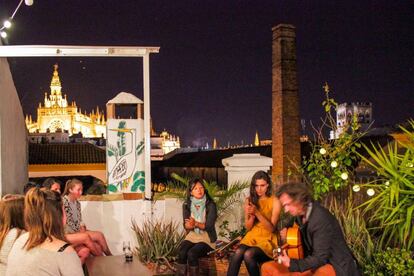
M 7 258 L 16 239 L 24 233 L 24 196 L 5 195 L 0 202 L 0 275 L 6 275 Z

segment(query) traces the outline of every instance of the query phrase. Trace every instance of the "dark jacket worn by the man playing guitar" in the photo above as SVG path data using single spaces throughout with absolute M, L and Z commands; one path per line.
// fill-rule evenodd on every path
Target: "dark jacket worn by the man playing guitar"
M 357 262 L 348 248 L 338 220 L 318 202 L 312 202 L 308 221 L 302 224 L 301 218 L 295 218 L 300 226 L 304 242 L 305 258 L 290 260 L 289 271 L 316 270 L 330 263 L 336 276 L 361 275 Z

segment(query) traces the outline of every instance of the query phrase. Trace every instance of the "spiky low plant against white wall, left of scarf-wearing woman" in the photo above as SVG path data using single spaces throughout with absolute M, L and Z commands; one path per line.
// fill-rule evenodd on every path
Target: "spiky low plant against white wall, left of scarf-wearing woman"
M 135 254 L 143 263 L 166 264 L 171 266 L 178 253 L 178 247 L 184 240 L 185 233 L 178 232 L 177 222 L 145 221 L 142 227 L 132 220 L 132 230 L 138 246 Z

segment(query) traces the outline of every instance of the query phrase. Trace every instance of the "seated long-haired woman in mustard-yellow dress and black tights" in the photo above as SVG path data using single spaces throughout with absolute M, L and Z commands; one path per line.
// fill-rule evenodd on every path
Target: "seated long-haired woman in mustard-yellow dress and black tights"
M 250 183 L 250 196 L 244 203 L 247 233 L 240 241 L 240 247 L 231 258 L 228 276 L 237 276 L 244 260 L 250 275 L 260 275 L 259 263 L 272 259 L 272 250 L 277 246 L 274 233 L 281 205 L 272 195 L 269 175 L 256 172 Z

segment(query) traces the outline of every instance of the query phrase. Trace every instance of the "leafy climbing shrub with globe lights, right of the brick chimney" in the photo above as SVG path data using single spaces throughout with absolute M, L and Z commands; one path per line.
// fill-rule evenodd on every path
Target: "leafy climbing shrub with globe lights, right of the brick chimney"
M 324 137 L 325 129 L 338 134 L 332 111 L 337 109 L 338 104 L 329 95 L 329 87 L 325 88 L 325 101 L 322 105 L 325 110 L 325 118 L 322 126 L 315 129 L 316 141 L 312 144 L 310 157 L 303 160 L 299 172 L 305 181 L 313 188 L 315 199 L 321 199 L 332 191 L 340 190 L 348 185 L 353 174 L 354 165 L 357 161 L 357 148 L 361 145 L 358 140 L 364 135 L 359 131 L 357 117 L 354 116 L 347 125 L 341 128 L 336 139 L 328 140 Z

